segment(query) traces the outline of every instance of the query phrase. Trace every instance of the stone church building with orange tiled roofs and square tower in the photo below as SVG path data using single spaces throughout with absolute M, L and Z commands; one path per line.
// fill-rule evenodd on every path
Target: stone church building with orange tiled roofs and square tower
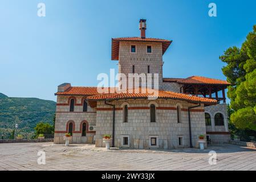
M 119 73 L 157 73 L 158 97 L 149 92 L 99 93 L 97 87 L 58 86 L 54 143 L 95 143 L 104 147 L 105 134 L 112 147 L 180 148 L 196 147 L 199 135 L 210 143 L 230 139 L 225 89 L 229 82 L 191 76 L 164 78 L 163 55 L 171 40 L 147 38 L 146 20 L 140 20 L 139 37 L 113 38 L 112 60 Z M 107 88 L 108 90 L 111 88 Z

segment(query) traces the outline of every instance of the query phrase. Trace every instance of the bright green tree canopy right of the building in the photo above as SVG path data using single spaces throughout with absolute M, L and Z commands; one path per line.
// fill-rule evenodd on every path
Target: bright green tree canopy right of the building
M 231 83 L 227 96 L 234 112 L 230 121 L 238 129 L 256 131 L 256 25 L 241 48 L 230 47 L 220 59 L 222 72 Z

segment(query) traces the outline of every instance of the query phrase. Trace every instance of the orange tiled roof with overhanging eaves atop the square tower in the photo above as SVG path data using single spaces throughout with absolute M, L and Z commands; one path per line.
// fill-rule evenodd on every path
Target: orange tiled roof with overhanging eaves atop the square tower
M 156 39 L 156 38 L 145 38 L 145 39 L 142 39 L 140 37 L 113 38 L 112 39 L 111 60 L 119 60 L 119 42 L 120 41 L 161 42 L 162 43 L 162 55 L 164 55 L 166 49 L 172 43 L 172 40 Z

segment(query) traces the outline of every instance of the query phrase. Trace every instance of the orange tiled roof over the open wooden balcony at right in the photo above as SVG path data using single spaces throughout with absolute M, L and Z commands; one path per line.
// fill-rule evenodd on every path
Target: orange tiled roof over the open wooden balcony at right
M 225 80 L 207 78 L 202 76 L 191 76 L 188 78 L 163 78 L 164 82 L 178 82 L 180 84 L 209 84 L 209 85 L 230 85 Z

